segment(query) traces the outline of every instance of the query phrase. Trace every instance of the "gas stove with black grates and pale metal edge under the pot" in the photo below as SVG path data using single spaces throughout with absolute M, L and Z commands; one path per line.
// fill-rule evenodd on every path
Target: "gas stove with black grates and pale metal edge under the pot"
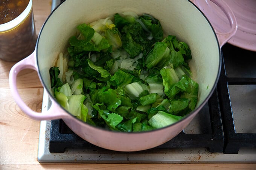
M 59 1 L 53 1 L 56 6 Z M 52 8 L 53 9 L 53 8 Z M 226 44 L 215 92 L 172 140 L 139 152 L 117 152 L 78 137 L 62 120 L 41 121 L 38 161 L 86 163 L 256 162 L 256 52 Z M 43 96 L 42 112 L 50 106 Z

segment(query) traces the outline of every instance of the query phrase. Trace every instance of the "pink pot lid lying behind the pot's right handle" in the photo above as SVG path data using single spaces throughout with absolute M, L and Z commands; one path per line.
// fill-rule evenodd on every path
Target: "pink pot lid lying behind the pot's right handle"
M 256 51 L 256 0 L 224 0 L 235 14 L 238 30 L 228 43 L 246 50 Z M 228 32 L 229 21 L 224 12 L 210 0 L 196 1 L 196 5 L 209 18 L 214 29 Z

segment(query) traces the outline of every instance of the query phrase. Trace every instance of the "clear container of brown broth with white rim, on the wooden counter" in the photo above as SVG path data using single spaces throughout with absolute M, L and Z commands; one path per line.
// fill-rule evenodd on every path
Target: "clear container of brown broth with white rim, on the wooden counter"
M 0 0 L 0 59 L 20 61 L 36 41 L 32 0 Z

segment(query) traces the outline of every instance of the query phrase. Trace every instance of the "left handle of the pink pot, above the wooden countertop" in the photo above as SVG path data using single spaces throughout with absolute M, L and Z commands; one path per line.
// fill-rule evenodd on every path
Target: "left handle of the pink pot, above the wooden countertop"
M 35 62 L 35 51 L 25 59 L 16 63 L 11 68 L 9 73 L 9 86 L 11 89 L 11 93 L 12 93 L 12 96 L 14 97 L 15 102 L 21 108 L 21 110 L 25 114 L 27 114 L 29 117 L 35 120 L 53 120 L 53 119 L 61 119 L 61 118 L 67 117 L 67 114 L 61 113 L 61 111 L 58 110 L 59 105 L 56 104 L 56 102 L 52 102 L 52 105 L 50 106 L 49 110 L 41 113 L 33 111 L 24 103 L 24 101 L 21 99 L 18 93 L 18 89 L 16 85 L 17 75 L 23 69 L 34 69 L 35 71 L 37 71 L 37 65 Z

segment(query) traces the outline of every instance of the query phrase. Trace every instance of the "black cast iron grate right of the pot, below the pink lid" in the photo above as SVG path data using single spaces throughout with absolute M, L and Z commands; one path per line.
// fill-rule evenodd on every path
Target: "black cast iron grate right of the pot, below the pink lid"
M 222 54 L 224 57 L 217 89 L 225 137 L 223 153 L 238 153 L 240 147 L 256 147 L 256 134 L 236 132 L 229 85 L 256 85 L 256 52 L 226 44 L 222 47 Z M 245 69 L 245 71 L 241 73 L 245 75 L 239 77 L 229 76 L 226 72 L 227 66 L 239 66 L 239 68 Z M 235 69 L 236 68 L 234 68 L 234 70 Z M 250 76 L 248 76 L 249 74 Z M 252 103 L 254 103 L 255 107 L 256 86 L 253 86 L 253 89 L 254 99 Z M 255 115 L 256 113 L 253 114 Z

